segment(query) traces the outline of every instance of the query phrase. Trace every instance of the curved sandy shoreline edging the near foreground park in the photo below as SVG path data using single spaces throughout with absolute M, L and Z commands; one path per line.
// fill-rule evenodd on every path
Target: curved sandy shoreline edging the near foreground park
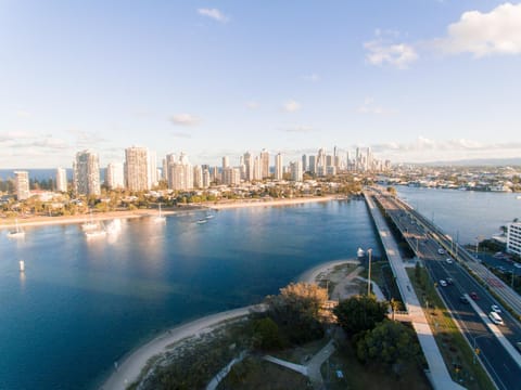
M 334 260 L 318 264 L 303 272 L 296 278 L 296 281 L 316 283 L 316 278 L 321 273 L 330 272 L 334 266 L 352 261 L 355 260 Z M 123 358 L 123 362 L 117 365 L 117 368 L 113 368 L 112 374 L 110 374 L 107 378 L 102 381 L 103 385 L 101 385 L 100 389 L 125 390 L 127 386 L 131 385 L 139 378 L 141 370 L 147 365 L 147 362 L 151 358 L 165 352 L 168 346 L 178 342 L 183 338 L 208 332 L 225 321 L 237 320 L 255 310 L 263 310 L 263 304 L 252 304 L 244 308 L 209 314 L 201 318 L 174 326 L 151 341 L 142 346 L 138 346 L 136 349 L 126 354 Z

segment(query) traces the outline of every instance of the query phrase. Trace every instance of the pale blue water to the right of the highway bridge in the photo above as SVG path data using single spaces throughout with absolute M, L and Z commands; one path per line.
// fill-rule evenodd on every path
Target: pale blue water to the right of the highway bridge
M 396 186 L 398 196 L 459 243 L 490 238 L 521 219 L 519 194 Z

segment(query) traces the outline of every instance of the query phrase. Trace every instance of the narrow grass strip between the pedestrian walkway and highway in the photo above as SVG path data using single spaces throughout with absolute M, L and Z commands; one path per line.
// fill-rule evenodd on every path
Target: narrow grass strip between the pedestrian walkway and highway
M 421 280 L 429 281 L 424 283 L 425 288 L 416 280 L 414 269 L 407 272 L 453 380 L 470 390 L 495 389 L 482 366 L 473 364 L 473 351 L 444 307 L 427 271 L 421 269 Z M 427 311 L 425 299 L 429 301 Z

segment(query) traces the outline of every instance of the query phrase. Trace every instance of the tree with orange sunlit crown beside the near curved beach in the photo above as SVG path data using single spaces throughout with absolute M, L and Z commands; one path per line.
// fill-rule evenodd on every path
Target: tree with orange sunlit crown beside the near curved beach
M 315 284 L 291 283 L 278 296 L 266 298 L 268 316 L 288 334 L 291 342 L 300 343 L 323 336 L 319 310 L 328 292 Z

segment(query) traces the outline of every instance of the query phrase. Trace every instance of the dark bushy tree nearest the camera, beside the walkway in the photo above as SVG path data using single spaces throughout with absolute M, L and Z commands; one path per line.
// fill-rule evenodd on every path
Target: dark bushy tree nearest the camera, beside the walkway
M 356 353 L 363 362 L 380 362 L 398 372 L 401 363 L 419 355 L 420 348 L 410 328 L 387 320 L 365 333 L 356 344 Z

